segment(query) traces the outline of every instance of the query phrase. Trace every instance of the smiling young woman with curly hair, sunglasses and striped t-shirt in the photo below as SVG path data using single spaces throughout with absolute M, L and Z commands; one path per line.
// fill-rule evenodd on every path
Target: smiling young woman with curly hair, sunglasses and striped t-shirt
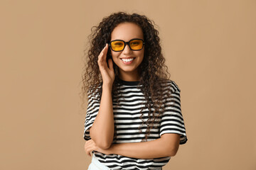
M 158 31 L 146 16 L 119 12 L 90 38 L 82 79 L 89 169 L 161 169 L 187 137 Z

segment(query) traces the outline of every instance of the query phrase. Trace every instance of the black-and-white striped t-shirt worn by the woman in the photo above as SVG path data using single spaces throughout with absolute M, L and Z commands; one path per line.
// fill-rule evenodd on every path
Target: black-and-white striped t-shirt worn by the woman
M 118 84 L 117 88 L 122 94 L 119 99 L 119 106 L 113 101 L 114 113 L 114 126 L 117 130 L 117 137 L 114 138 L 113 144 L 128 143 L 128 142 L 142 142 L 146 135 L 146 125 L 140 128 L 142 119 L 144 122 L 147 120 L 148 108 L 142 109 L 142 102 L 146 102 L 142 91 L 137 88 L 139 81 L 123 81 Z M 142 86 L 142 85 L 141 85 Z M 166 89 L 171 88 L 171 98 L 166 98 L 164 113 L 161 116 L 159 123 L 155 123 L 157 128 L 152 128 L 147 141 L 156 140 L 165 133 L 177 133 L 181 135 L 180 145 L 185 144 L 187 141 L 186 129 L 181 114 L 181 100 L 180 92 L 176 83 L 172 80 L 166 81 Z M 117 95 L 119 96 L 119 94 Z M 92 127 L 96 115 L 100 108 L 100 101 L 95 96 L 88 94 L 87 113 L 85 118 L 84 139 L 90 140 L 89 128 Z M 151 108 L 154 111 L 154 108 Z M 154 159 L 137 159 L 131 157 L 124 157 L 118 154 L 102 154 L 93 151 L 95 157 L 105 166 L 110 169 L 156 169 L 166 165 L 171 157 L 160 157 Z

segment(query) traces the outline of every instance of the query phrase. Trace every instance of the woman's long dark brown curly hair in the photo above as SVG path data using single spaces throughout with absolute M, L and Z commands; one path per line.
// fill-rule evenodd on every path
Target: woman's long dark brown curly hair
M 165 65 L 164 56 L 161 53 L 160 46 L 160 38 L 159 31 L 154 28 L 154 21 L 149 20 L 146 16 L 139 15 L 137 13 L 112 13 L 110 16 L 107 16 L 102 19 L 99 26 L 92 27 L 92 33 L 89 35 L 90 40 L 90 48 L 85 51 L 85 67 L 84 73 L 82 74 L 82 101 L 85 99 L 85 94 L 95 94 L 97 98 L 101 99 L 102 95 L 102 76 L 100 74 L 100 68 L 97 64 L 98 55 L 102 51 L 103 47 L 105 47 L 107 42 L 110 42 L 112 30 L 119 23 L 135 23 L 137 26 L 142 28 L 144 34 L 144 59 L 142 63 L 139 65 L 139 84 L 138 88 L 142 90 L 144 97 L 146 99 L 146 103 L 142 110 L 145 108 L 149 109 L 148 119 L 146 123 L 142 120 L 142 115 L 140 119 L 142 120 L 141 127 L 146 124 L 146 137 L 143 140 L 147 140 L 150 130 L 154 127 L 154 123 L 159 123 L 159 118 L 161 113 L 164 111 L 164 101 L 167 95 L 169 97 L 169 93 L 164 94 L 166 91 L 165 86 L 161 86 L 161 82 L 164 82 L 171 77 L 171 74 L 168 72 L 168 67 Z M 111 53 L 110 50 L 107 52 L 107 59 L 110 58 Z M 117 78 L 119 75 L 118 67 L 113 62 L 114 74 Z M 167 75 L 168 74 L 168 75 Z M 114 79 L 114 83 L 112 85 L 112 100 L 117 101 L 119 104 L 119 97 L 117 84 L 118 79 Z M 157 82 L 157 83 L 156 83 Z M 143 86 L 139 86 L 143 85 Z M 169 91 L 171 91 L 169 89 Z M 83 102 L 84 103 L 84 102 Z M 153 108 L 153 111 L 152 111 Z M 139 127 L 139 131 L 141 131 L 141 127 Z M 114 130 L 114 137 L 116 137 L 116 129 Z

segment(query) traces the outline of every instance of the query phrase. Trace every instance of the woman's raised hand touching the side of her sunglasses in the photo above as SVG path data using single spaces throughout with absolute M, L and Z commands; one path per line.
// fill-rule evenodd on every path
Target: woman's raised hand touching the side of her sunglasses
M 114 69 L 112 59 L 108 60 L 108 65 L 110 66 L 110 68 L 107 67 L 107 49 L 108 44 L 106 44 L 103 50 L 100 52 L 97 62 L 100 67 L 100 74 L 102 74 L 103 84 L 108 84 L 112 86 L 114 82 Z

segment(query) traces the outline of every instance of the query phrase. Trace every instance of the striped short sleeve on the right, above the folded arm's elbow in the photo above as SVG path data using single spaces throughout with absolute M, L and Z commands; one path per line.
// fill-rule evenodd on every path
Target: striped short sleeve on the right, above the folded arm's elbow
M 177 133 L 181 135 L 180 145 L 187 142 L 186 128 L 181 113 L 181 90 L 174 81 L 168 85 L 171 88 L 171 96 L 166 98 L 164 113 L 161 117 L 160 136 L 165 133 Z

